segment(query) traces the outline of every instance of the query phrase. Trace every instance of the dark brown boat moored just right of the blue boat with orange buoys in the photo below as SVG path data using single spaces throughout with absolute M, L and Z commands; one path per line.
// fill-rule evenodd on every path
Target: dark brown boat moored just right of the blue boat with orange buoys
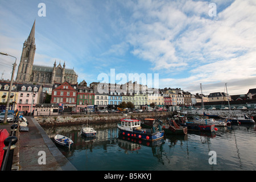
M 168 120 L 167 123 L 163 123 L 162 127 L 165 134 L 185 135 L 188 133 L 187 126 L 178 125 L 174 119 Z

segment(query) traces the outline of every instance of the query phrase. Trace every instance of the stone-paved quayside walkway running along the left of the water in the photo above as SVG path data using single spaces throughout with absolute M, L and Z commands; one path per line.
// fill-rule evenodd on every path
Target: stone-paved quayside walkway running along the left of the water
M 26 119 L 29 131 L 16 132 L 18 142 L 14 148 L 13 170 L 76 171 L 34 117 Z M 0 129 L 6 129 L 10 133 L 13 124 L 0 125 Z

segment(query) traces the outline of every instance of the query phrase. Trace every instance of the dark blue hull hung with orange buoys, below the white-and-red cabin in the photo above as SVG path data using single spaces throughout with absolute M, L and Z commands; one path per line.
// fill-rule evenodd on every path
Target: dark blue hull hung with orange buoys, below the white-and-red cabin
M 127 131 L 119 128 L 119 134 L 127 137 L 133 137 L 137 139 L 143 139 L 143 140 L 158 140 L 164 137 L 164 131 L 158 131 L 156 133 L 141 133 L 137 131 Z

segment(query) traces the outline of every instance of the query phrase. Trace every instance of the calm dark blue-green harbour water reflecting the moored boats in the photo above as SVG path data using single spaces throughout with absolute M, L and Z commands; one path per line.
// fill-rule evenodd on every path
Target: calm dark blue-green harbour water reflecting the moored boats
M 58 147 L 79 171 L 255 171 L 255 125 L 217 127 L 213 133 L 188 131 L 185 136 L 167 135 L 156 142 L 118 136 L 117 123 L 90 125 L 96 138 L 81 137 L 81 126 L 43 127 L 53 140 L 56 134 L 74 142 Z M 216 164 L 209 155 L 216 152 Z

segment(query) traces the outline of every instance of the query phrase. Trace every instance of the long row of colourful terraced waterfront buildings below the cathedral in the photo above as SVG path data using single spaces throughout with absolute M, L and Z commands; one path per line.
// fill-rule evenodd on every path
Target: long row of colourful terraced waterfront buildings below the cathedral
M 94 83 L 95 84 L 95 83 Z M 133 83 L 134 84 L 134 83 Z M 147 109 L 150 104 L 162 107 L 170 106 L 195 106 L 202 102 L 201 94 L 191 94 L 181 89 L 159 89 L 154 92 L 148 90 L 133 92 L 115 92 L 117 84 L 104 84 L 108 88 L 108 93 L 98 93 L 95 86 L 87 86 L 85 81 L 80 84 L 56 83 L 53 86 L 38 84 L 13 83 L 10 96 L 11 109 L 31 112 L 33 108 L 46 100 L 46 94 L 51 95 L 51 104 L 59 105 L 59 109 L 69 108 L 72 111 L 80 109 L 100 110 L 117 109 L 121 102 L 131 102 L 135 109 Z M 109 86 L 110 85 L 110 86 Z M 10 81 L 0 82 L 0 98 L 2 102 L 1 110 L 5 109 L 4 103 L 7 101 Z M 133 85 L 133 88 L 135 85 Z M 143 86 L 137 86 L 143 88 Z M 126 86 L 126 88 L 129 88 Z M 250 89 L 249 96 L 255 97 L 254 89 Z M 129 91 L 127 89 L 126 91 Z M 226 93 L 210 93 L 209 96 L 203 96 L 203 102 L 229 101 L 232 96 Z M 237 98 L 237 100 L 242 98 Z

